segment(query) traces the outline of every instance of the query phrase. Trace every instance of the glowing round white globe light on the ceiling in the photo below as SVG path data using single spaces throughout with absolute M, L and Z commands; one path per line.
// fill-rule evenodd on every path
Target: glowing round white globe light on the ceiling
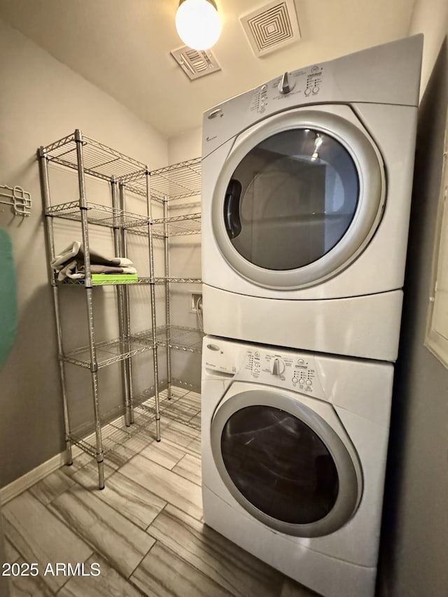
M 194 50 L 208 50 L 221 34 L 214 0 L 181 0 L 176 13 L 179 37 Z

